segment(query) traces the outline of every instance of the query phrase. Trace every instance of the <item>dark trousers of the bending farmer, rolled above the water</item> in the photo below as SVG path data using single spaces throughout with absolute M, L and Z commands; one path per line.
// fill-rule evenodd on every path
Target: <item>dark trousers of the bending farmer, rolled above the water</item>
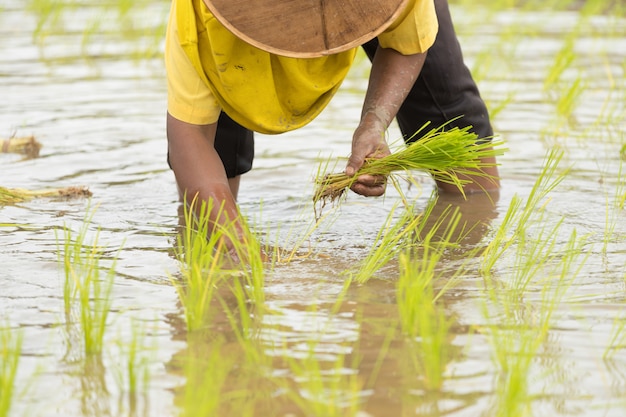
M 405 139 L 413 137 L 425 123 L 429 129 L 448 124 L 459 128 L 472 126 L 479 138 L 493 136 L 487 107 L 476 83 L 463 62 L 461 47 L 452 25 L 447 0 L 435 0 L 439 32 L 428 50 L 424 68 L 396 116 Z M 378 40 L 363 45 L 370 60 Z M 413 138 L 418 139 L 418 138 Z M 252 169 L 254 134 L 222 113 L 215 136 L 215 148 L 229 178 Z

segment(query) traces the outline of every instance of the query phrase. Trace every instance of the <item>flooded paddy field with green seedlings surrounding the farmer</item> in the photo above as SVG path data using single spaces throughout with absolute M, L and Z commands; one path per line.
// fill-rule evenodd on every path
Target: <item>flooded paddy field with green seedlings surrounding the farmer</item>
M 0 153 L 0 186 L 92 195 L 0 205 L 0 416 L 623 416 L 626 9 L 552 3 L 451 1 L 507 148 L 499 196 L 437 199 L 417 172 L 315 224 L 313 178 L 344 166 L 363 59 L 315 122 L 257 135 L 241 209 L 296 255 L 209 286 L 191 328 L 169 3 L 3 2 L 0 139 L 41 149 Z M 362 267 L 403 196 L 430 213 L 425 243 Z

